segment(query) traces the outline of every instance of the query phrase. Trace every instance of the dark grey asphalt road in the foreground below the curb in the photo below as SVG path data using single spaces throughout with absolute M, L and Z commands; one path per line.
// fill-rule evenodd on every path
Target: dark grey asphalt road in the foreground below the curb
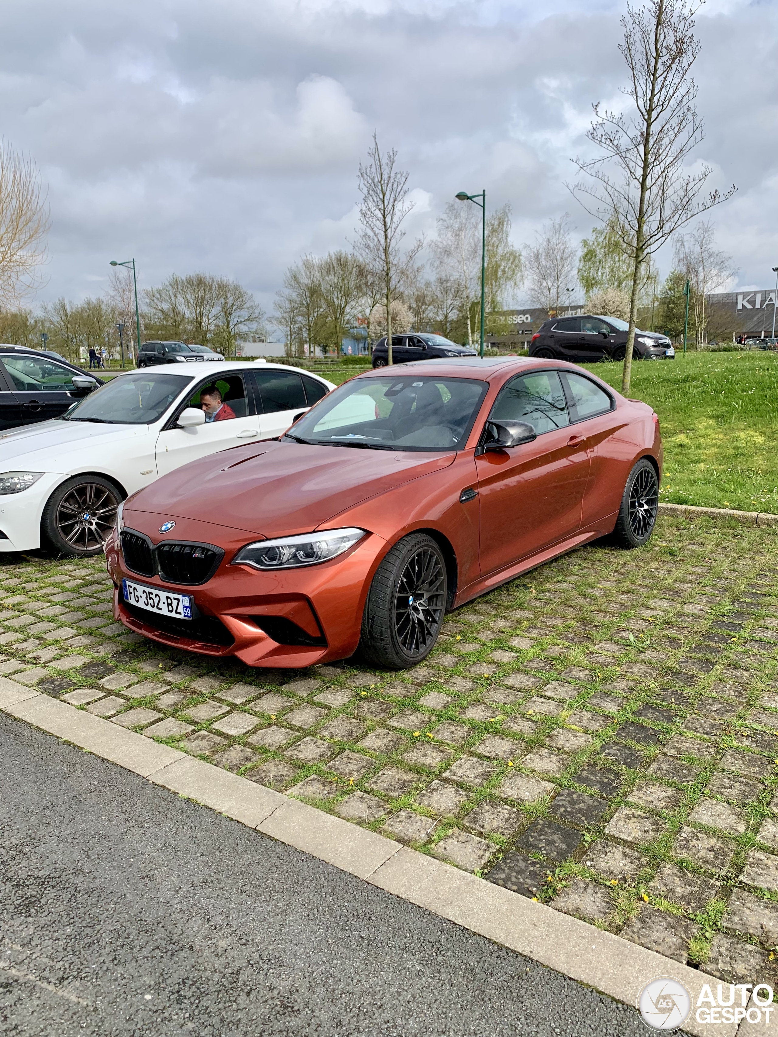
M 645 1028 L 630 1007 L 0 717 L 0 1032 Z

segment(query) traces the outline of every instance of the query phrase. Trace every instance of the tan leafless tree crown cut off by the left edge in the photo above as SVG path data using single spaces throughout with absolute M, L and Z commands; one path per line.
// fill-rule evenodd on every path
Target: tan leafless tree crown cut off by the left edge
M 37 166 L 0 140 L 0 306 L 18 307 L 39 286 L 48 230 L 49 206 Z

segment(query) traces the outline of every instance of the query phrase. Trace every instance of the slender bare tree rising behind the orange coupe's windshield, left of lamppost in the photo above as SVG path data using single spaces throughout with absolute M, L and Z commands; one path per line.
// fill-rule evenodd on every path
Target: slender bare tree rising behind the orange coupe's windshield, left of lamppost
M 381 153 L 378 135 L 367 151 L 367 164 L 359 164 L 359 190 L 362 203 L 359 220 L 362 232 L 357 241 L 360 258 L 381 275 L 384 306 L 387 316 L 386 344 L 388 362 L 392 363 L 392 300 L 395 299 L 423 242 L 417 241 L 401 251 L 405 230 L 401 224 L 413 208 L 408 200 L 408 173 L 395 169 L 397 152 L 392 148 Z

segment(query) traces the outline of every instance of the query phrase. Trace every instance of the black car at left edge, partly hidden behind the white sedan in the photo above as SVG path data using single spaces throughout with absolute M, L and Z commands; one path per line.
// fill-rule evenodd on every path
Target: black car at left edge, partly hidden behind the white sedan
M 0 345 L 0 431 L 58 418 L 104 384 L 40 349 Z

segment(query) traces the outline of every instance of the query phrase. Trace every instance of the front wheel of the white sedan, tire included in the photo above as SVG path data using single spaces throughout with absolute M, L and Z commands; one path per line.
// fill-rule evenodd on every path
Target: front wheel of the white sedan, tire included
M 66 479 L 44 508 L 41 539 L 60 555 L 99 555 L 116 525 L 116 508 L 122 497 L 115 483 L 100 475 Z

